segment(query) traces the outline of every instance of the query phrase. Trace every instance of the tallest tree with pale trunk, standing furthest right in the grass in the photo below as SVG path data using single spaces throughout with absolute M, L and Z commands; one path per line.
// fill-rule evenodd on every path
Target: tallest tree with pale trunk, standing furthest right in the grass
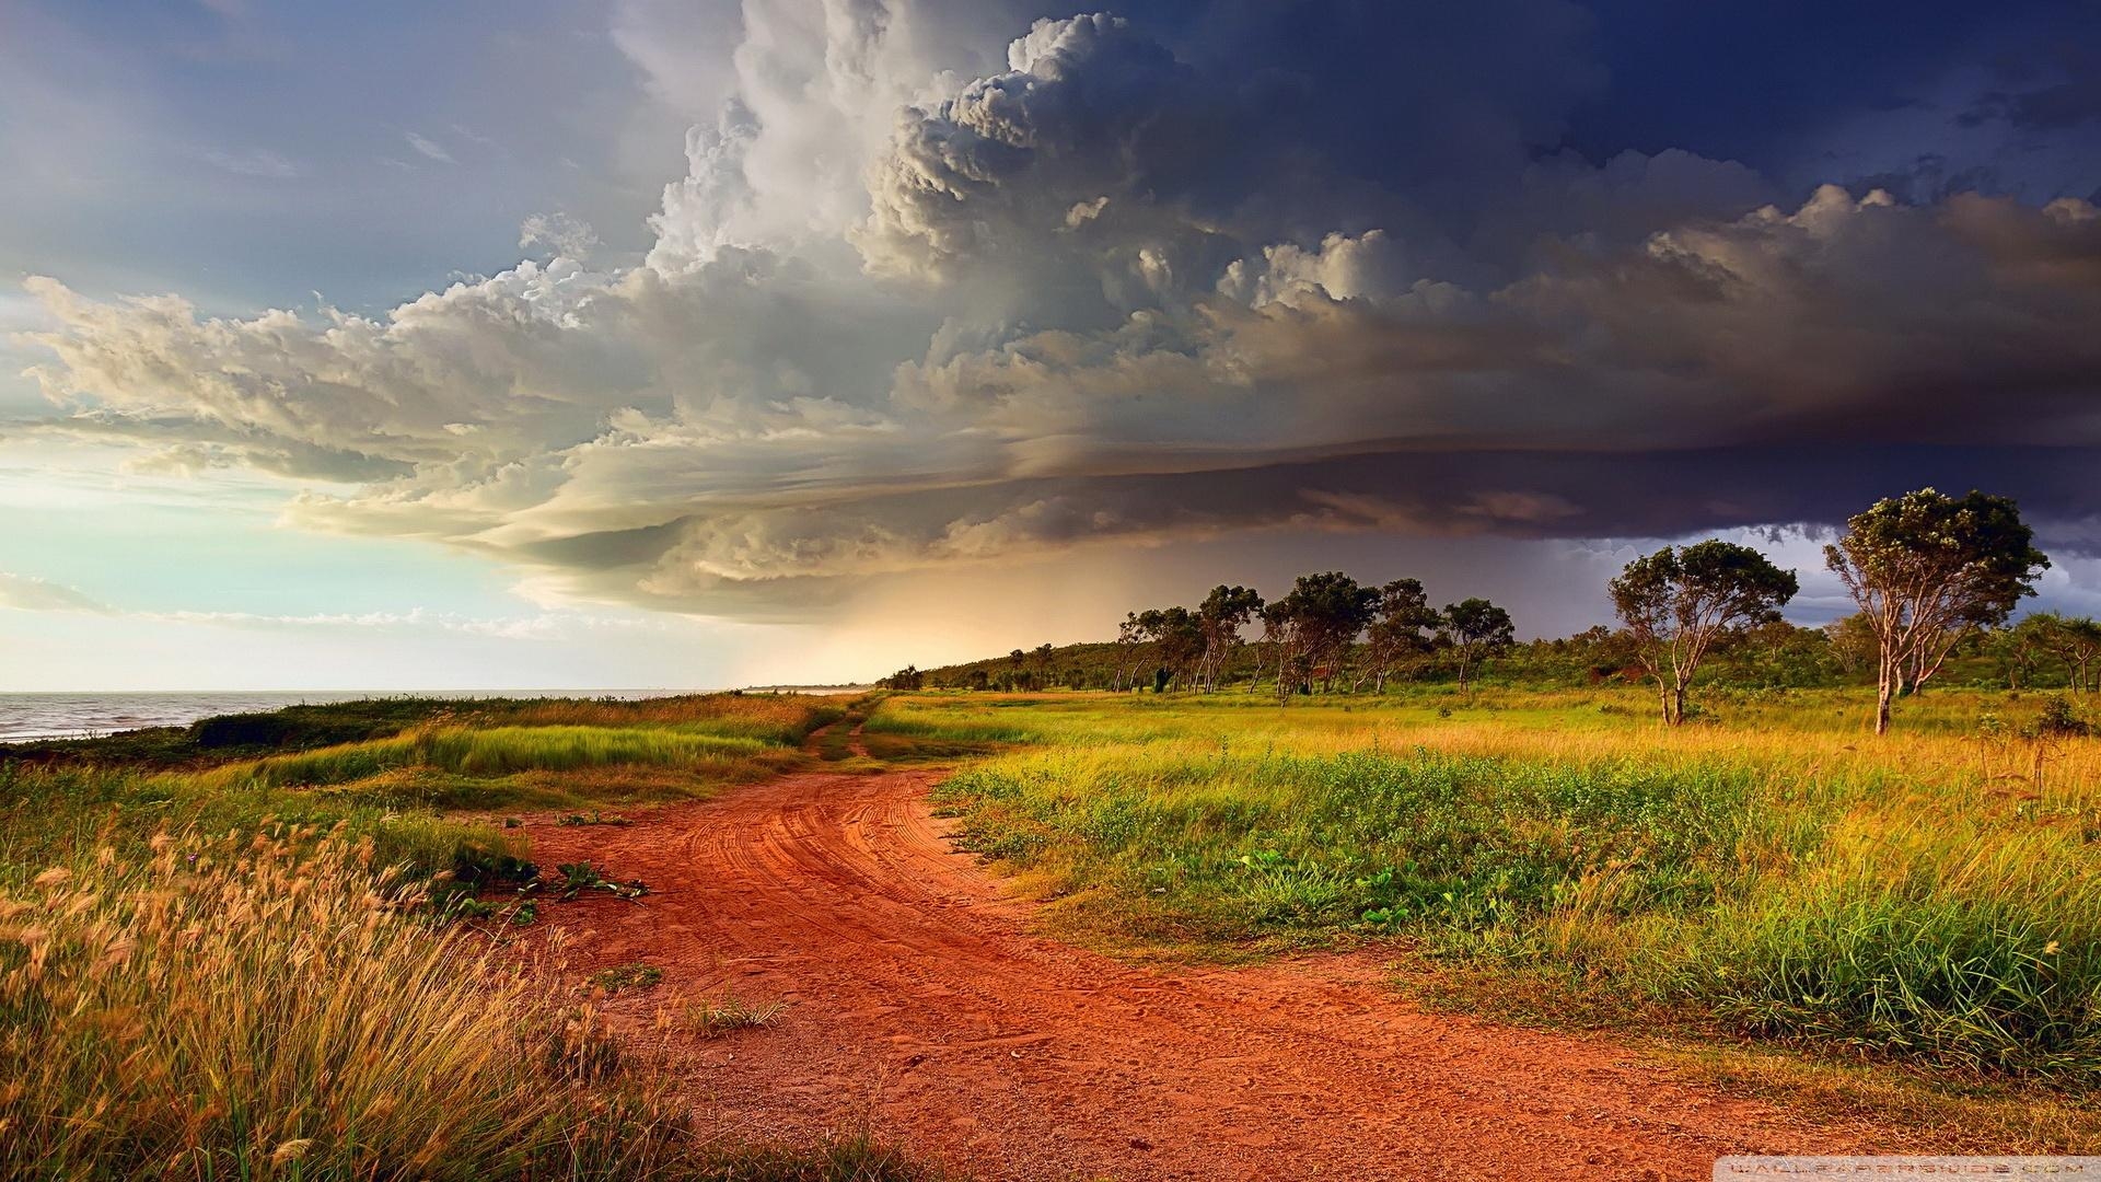
M 1859 604 L 1876 639 L 1874 732 L 1889 702 L 1939 671 L 1971 629 L 1996 627 L 2051 559 L 2006 496 L 1956 501 L 1933 488 L 1876 501 L 1824 547 L 1824 564 Z

